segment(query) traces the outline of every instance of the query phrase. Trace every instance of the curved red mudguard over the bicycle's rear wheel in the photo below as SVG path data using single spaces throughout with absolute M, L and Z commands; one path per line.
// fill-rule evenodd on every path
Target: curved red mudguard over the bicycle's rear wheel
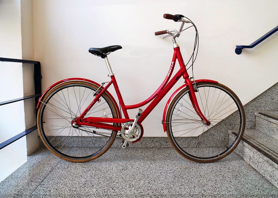
M 66 81 L 74 81 L 74 80 L 85 81 L 85 82 L 92 83 L 92 84 L 94 84 L 94 85 L 96 85 L 96 86 L 100 86 L 100 84 L 96 83 L 95 81 L 92 81 L 92 80 L 89 80 L 89 79 L 85 79 L 85 78 L 67 78 L 67 79 L 58 81 L 58 82 L 54 83 L 53 85 L 51 85 L 49 88 L 47 88 L 47 89 L 45 90 L 45 92 L 43 92 L 43 94 L 42 94 L 41 97 L 39 98 L 39 102 L 38 102 L 36 108 L 39 108 L 39 105 L 40 105 L 40 103 L 41 103 L 41 100 L 43 99 L 43 97 L 45 96 L 45 94 L 46 94 L 49 90 L 51 90 L 53 87 L 57 86 L 58 84 L 64 83 L 64 82 L 66 82 Z M 100 88 L 103 89 L 103 86 L 101 86 Z M 116 100 L 115 100 L 114 97 L 111 95 L 111 93 L 108 92 L 107 90 L 106 90 L 106 93 L 109 95 L 109 97 L 110 97 L 110 98 L 112 99 L 112 101 L 114 102 L 114 104 L 115 104 L 115 106 L 116 106 L 116 109 L 117 109 L 117 112 L 118 112 L 119 118 L 122 118 L 121 113 L 120 113 L 120 109 L 119 109 L 119 106 L 118 106 Z

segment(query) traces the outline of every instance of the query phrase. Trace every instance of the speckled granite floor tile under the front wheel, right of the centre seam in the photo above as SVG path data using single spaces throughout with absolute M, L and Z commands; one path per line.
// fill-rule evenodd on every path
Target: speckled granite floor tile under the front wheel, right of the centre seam
M 161 197 L 278 196 L 278 189 L 234 152 L 220 161 L 208 164 L 176 158 L 173 149 L 154 152 Z M 167 159 L 171 152 L 173 157 Z

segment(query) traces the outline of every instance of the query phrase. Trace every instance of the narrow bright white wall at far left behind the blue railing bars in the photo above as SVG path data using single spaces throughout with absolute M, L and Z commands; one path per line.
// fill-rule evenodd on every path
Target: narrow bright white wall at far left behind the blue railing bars
M 0 1 L 0 57 L 22 58 L 20 0 Z M 0 62 L 0 101 L 23 96 L 22 63 Z M 0 106 L 0 142 L 25 130 L 23 101 Z M 0 181 L 27 160 L 26 138 L 0 150 Z

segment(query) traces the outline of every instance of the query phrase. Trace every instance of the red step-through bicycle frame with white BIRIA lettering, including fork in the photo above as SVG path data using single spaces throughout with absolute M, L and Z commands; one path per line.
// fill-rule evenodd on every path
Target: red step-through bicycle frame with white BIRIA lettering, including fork
M 170 77 L 172 76 L 176 60 L 178 59 L 180 69 L 178 72 L 172 77 L 170 80 Z M 180 52 L 180 47 L 174 48 L 174 54 L 173 59 L 171 62 L 171 66 L 169 69 L 169 72 L 162 82 L 162 84 L 159 86 L 159 88 L 145 101 L 134 104 L 134 105 L 125 105 L 122 95 L 119 91 L 119 87 L 116 81 L 116 78 L 114 75 L 111 75 L 111 81 L 96 95 L 94 100 L 89 104 L 89 106 L 82 112 L 82 114 L 74 121 L 78 125 L 85 125 L 85 126 L 92 126 L 95 128 L 103 128 L 103 129 L 109 129 L 109 130 L 121 130 L 121 127 L 114 126 L 113 124 L 107 124 L 107 123 L 125 123 L 127 121 L 132 121 L 133 119 L 129 119 L 129 115 L 127 113 L 128 109 L 135 109 L 142 107 L 146 105 L 147 103 L 151 102 L 149 106 L 142 112 L 142 115 L 140 119 L 138 120 L 138 123 L 142 123 L 144 119 L 149 115 L 149 113 L 156 107 L 156 105 L 161 101 L 161 99 L 169 92 L 169 90 L 175 85 L 175 83 L 180 79 L 180 77 L 183 77 L 185 80 L 185 83 L 189 86 L 190 92 L 189 92 L 189 98 L 191 100 L 192 106 L 195 109 L 197 115 L 200 117 L 201 121 L 205 121 L 207 124 L 210 124 L 210 122 L 206 119 L 206 117 L 202 114 L 196 96 L 195 96 L 195 90 L 193 88 L 192 82 L 189 79 L 189 75 L 186 71 L 186 67 L 184 65 L 182 55 Z M 170 80 L 170 81 L 169 81 Z M 111 86 L 111 84 L 114 85 L 118 100 L 120 102 L 120 106 L 122 107 L 123 114 L 125 116 L 125 119 L 122 118 L 105 118 L 105 117 L 85 117 L 87 112 L 94 106 L 96 102 L 99 101 L 101 95 Z

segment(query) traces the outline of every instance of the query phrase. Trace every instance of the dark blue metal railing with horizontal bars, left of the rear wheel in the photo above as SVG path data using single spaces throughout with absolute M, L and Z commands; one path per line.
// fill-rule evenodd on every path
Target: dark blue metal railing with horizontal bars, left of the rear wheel
M 21 98 L 16 98 L 16 99 L 8 100 L 8 101 L 3 101 L 3 102 L 0 102 L 0 106 L 10 104 L 10 103 L 13 103 L 13 102 L 17 102 L 17 101 L 21 101 L 21 100 L 26 100 L 26 99 L 29 99 L 29 98 L 35 98 L 35 105 L 36 105 L 39 101 L 40 96 L 41 96 L 41 63 L 39 61 L 30 61 L 30 60 L 22 60 L 22 59 L 9 59 L 9 58 L 1 58 L 1 57 L 0 57 L 0 61 L 1 62 L 16 62 L 16 63 L 31 63 L 31 64 L 34 64 L 34 86 L 35 86 L 35 94 L 34 95 L 24 96 L 24 97 L 21 97 Z M 36 111 L 36 113 L 37 113 L 37 111 Z M 9 144 L 13 143 L 14 141 L 17 141 L 21 137 L 24 137 L 25 135 L 29 134 L 30 132 L 32 132 L 36 129 L 37 129 L 37 126 L 35 125 L 35 126 L 29 128 L 29 129 L 26 129 L 25 131 L 19 133 L 18 135 L 0 143 L 0 149 L 8 146 Z

